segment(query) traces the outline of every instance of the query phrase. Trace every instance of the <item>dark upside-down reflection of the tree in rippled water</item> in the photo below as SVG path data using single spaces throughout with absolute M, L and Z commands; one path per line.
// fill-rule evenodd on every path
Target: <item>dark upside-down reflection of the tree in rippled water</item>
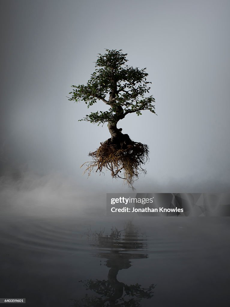
M 99 232 L 87 233 L 91 246 L 103 249 L 96 257 L 107 259 L 105 265 L 110 268 L 107 280 L 80 281 L 86 290 L 94 295 L 85 294 L 81 300 L 72 300 L 74 307 L 140 307 L 142 299 L 153 297 L 154 284 L 143 288 L 138 283 L 127 285 L 117 280 L 119 270 L 131 267 L 132 259 L 148 258 L 147 254 L 137 253 L 147 250 L 146 236 L 132 222 L 125 224 L 124 230 L 118 231 L 112 227 L 111 234 L 105 234 L 105 229 Z

